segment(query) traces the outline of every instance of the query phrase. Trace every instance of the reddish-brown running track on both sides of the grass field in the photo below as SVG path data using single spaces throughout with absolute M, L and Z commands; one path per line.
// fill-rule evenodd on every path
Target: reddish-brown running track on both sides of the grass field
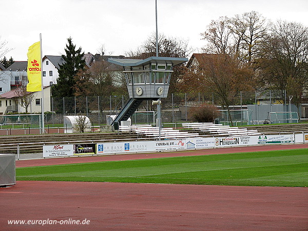
M 16 161 L 17 167 L 308 148 L 216 148 Z M 17 181 L 0 188 L 1 230 L 308 230 L 308 188 Z M 8 220 L 89 220 L 9 225 Z M 38 221 L 37 221 L 38 223 Z

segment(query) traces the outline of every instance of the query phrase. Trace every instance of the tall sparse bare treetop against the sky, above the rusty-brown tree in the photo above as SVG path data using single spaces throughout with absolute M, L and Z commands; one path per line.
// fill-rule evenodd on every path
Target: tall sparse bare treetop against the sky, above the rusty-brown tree
M 201 36 L 208 42 L 204 48 L 206 53 L 227 53 L 251 64 L 267 30 L 265 18 L 252 11 L 231 18 L 219 17 L 211 21 Z

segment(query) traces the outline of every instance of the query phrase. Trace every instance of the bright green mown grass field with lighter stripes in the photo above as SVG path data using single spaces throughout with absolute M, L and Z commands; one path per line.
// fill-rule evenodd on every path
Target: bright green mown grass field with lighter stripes
M 16 168 L 16 180 L 308 186 L 308 149 Z

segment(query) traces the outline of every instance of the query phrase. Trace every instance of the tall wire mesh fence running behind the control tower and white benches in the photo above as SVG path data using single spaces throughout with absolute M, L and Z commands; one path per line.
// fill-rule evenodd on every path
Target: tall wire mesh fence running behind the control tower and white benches
M 247 105 L 285 104 L 287 105 L 285 91 L 238 91 L 231 92 L 228 97 L 229 109 L 246 110 Z M 107 116 L 117 114 L 129 100 L 128 95 L 110 95 L 109 97 L 72 97 L 51 98 L 51 111 L 45 117 L 45 124 L 63 124 L 64 115 L 86 115 L 95 125 L 105 125 Z M 189 121 L 189 108 L 200 104 L 211 104 L 225 110 L 220 97 L 215 93 L 170 93 L 167 98 L 161 99 L 163 123 L 179 123 Z M 132 116 L 132 123 L 153 123 L 152 111 L 156 117 L 157 106 L 151 101 L 144 101 Z M 272 111 L 271 111 L 272 112 Z M 251 113 L 251 112 L 249 112 Z M 248 113 L 248 114 L 249 114 Z M 235 114 L 235 120 L 245 118 L 247 113 Z M 267 115 L 266 115 L 267 116 Z M 221 118 L 223 119 L 223 118 Z

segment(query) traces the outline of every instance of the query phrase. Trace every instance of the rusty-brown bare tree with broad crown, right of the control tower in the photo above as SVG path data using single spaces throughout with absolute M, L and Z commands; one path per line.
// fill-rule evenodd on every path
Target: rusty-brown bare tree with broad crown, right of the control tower
M 213 92 L 223 108 L 227 109 L 233 125 L 229 110 L 230 97 L 236 91 L 253 89 L 253 70 L 228 54 L 204 54 L 198 61 L 198 66 L 187 69 L 182 76 L 182 86 L 187 90 L 192 84 L 191 88 L 199 92 Z

